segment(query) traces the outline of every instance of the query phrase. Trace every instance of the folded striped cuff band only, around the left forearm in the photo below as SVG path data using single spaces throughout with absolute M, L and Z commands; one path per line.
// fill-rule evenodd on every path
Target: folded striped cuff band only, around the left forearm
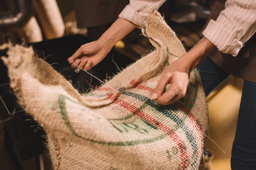
M 138 28 L 144 28 L 146 26 L 145 19 L 140 15 L 139 12 L 135 11 L 134 8 L 127 5 L 119 14 L 120 18 L 130 21 L 138 26 Z

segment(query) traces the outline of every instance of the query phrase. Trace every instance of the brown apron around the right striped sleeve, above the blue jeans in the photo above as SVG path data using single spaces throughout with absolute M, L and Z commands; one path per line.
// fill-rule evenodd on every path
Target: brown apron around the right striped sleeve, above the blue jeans
M 220 12 L 225 9 L 225 2 L 226 0 L 216 0 L 204 29 L 210 20 L 216 20 Z M 218 50 L 209 57 L 228 74 L 250 82 L 256 82 L 256 34 L 244 44 L 236 57 L 221 53 Z

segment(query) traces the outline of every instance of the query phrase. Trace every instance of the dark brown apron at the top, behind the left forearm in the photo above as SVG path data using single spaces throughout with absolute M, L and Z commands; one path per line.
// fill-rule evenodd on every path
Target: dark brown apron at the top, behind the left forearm
M 114 22 L 129 0 L 75 0 L 79 28 Z

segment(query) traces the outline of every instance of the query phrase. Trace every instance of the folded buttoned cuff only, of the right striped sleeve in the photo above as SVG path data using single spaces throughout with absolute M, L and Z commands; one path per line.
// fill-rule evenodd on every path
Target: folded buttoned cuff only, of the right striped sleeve
M 244 46 L 243 43 L 239 41 L 242 36 L 242 30 L 224 27 L 222 23 L 218 23 L 214 20 L 210 20 L 203 31 L 203 35 L 212 42 L 219 51 L 231 54 L 234 57 L 236 57 Z

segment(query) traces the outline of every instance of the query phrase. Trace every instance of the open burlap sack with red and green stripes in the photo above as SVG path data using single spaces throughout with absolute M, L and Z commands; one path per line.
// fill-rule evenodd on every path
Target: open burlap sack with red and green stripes
M 157 11 L 143 33 L 156 50 L 108 81 L 113 89 L 102 85 L 83 95 L 31 47 L 15 45 L 3 58 L 20 105 L 47 132 L 55 170 L 198 169 L 208 128 L 198 71 L 183 99 L 152 101 L 149 91 L 186 51 Z

